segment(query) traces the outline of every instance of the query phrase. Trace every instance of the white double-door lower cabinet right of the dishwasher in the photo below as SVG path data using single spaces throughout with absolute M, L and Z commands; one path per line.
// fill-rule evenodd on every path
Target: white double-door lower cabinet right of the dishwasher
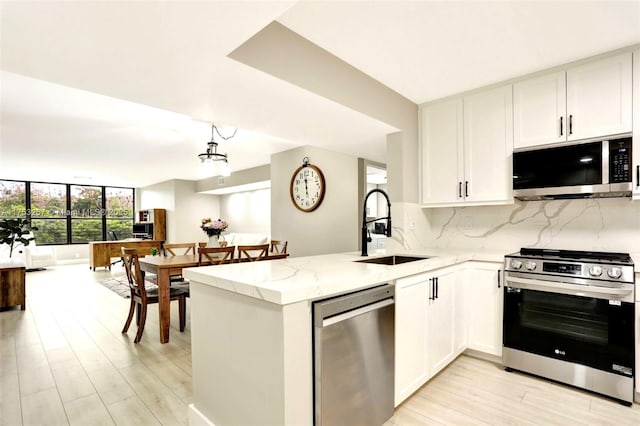
M 396 406 L 466 347 L 459 270 L 443 268 L 396 280 Z

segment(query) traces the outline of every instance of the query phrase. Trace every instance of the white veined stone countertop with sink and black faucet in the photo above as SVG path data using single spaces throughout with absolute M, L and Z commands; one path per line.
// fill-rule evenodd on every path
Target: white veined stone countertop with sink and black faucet
M 363 257 L 359 252 L 351 252 L 186 268 L 183 275 L 191 281 L 287 305 L 356 291 L 466 261 L 502 262 L 505 254 L 505 251 L 451 249 L 370 254 L 369 258 L 387 255 L 430 257 L 389 266 L 358 263 L 356 261 Z

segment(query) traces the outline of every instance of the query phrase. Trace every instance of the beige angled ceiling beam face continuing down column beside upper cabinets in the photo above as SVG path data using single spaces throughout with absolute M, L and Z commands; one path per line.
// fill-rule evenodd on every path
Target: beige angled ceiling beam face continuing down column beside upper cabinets
M 274 46 L 286 54 L 274 54 Z M 396 152 L 392 162 L 387 158 L 389 194 L 397 202 L 418 201 L 415 103 L 277 21 L 229 56 L 398 129 L 387 135 L 387 157 Z

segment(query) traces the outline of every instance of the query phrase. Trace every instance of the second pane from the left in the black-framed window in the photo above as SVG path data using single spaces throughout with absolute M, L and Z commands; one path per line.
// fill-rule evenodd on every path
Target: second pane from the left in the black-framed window
M 31 183 L 31 225 L 38 244 L 67 242 L 67 185 Z

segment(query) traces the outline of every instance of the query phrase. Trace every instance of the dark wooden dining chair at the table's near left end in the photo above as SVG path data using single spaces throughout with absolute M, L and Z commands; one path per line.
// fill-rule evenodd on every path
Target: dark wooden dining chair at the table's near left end
M 127 317 L 127 321 L 124 323 L 122 333 L 126 333 L 129 330 L 131 320 L 133 319 L 133 313 L 135 311 L 138 332 L 136 333 L 136 338 L 133 342 L 138 343 L 140 339 L 142 339 L 144 325 L 147 320 L 147 306 L 152 303 L 158 303 L 159 294 L 157 288 L 146 288 L 144 271 L 140 269 L 140 263 L 138 262 L 138 252 L 135 248 L 122 247 L 122 259 L 124 261 L 124 268 L 127 273 L 129 289 L 131 290 L 131 306 L 129 307 L 129 316 Z M 178 301 L 180 331 L 184 331 L 187 311 L 186 293 L 184 292 L 184 290 L 177 288 L 170 288 L 169 291 L 169 299 Z

